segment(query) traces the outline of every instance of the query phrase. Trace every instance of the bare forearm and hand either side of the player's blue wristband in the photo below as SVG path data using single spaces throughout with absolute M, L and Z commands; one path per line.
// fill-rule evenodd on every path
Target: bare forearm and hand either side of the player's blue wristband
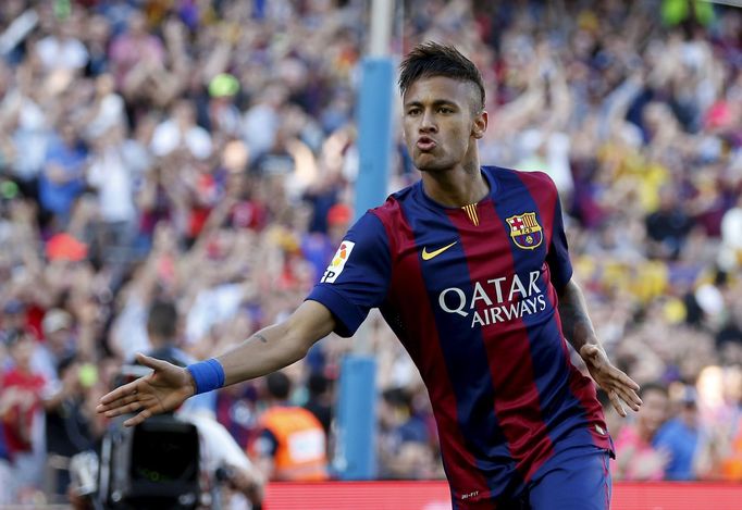
M 317 301 L 305 301 L 285 321 L 259 331 L 217 358 L 224 369 L 224 385 L 265 375 L 300 360 L 334 327 L 330 310 Z M 196 382 L 187 369 L 144 354 L 137 354 L 137 360 L 152 373 L 103 396 L 98 412 L 109 418 L 136 412 L 124 422 L 133 426 L 152 414 L 177 409 L 196 394 Z

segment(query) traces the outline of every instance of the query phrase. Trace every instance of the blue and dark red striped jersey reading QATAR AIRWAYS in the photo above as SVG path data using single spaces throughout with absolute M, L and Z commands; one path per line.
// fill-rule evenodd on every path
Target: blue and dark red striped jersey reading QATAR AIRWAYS
M 556 187 L 482 172 L 478 203 L 443 207 L 418 182 L 368 211 L 308 297 L 342 336 L 381 310 L 428 387 L 455 508 L 517 494 L 565 449 L 611 449 L 557 313 L 572 268 Z

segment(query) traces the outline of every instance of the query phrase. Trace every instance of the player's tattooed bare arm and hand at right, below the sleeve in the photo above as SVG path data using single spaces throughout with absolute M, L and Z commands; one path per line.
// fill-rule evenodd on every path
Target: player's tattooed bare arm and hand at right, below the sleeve
M 580 353 L 595 383 L 608 394 L 616 411 L 626 416 L 621 400 L 639 411 L 639 406 L 642 405 L 642 399 L 636 395 L 639 385 L 608 360 L 588 315 L 582 290 L 573 279 L 559 294 L 559 316 L 567 340 Z

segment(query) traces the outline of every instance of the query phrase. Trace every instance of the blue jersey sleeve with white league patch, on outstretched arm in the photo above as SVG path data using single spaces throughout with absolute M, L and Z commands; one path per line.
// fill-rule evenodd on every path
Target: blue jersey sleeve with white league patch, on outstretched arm
M 386 298 L 392 272 L 389 244 L 381 220 L 367 212 L 348 231 L 307 299 L 335 316 L 335 333 L 353 336 L 372 308 Z

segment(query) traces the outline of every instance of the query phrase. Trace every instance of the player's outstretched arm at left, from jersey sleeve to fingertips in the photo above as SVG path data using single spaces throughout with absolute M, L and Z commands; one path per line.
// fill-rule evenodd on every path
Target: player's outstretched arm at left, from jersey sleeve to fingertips
M 389 283 L 391 256 L 381 220 L 367 213 L 350 228 L 307 300 L 285 321 L 265 327 L 226 353 L 181 369 L 137 356 L 153 372 L 100 399 L 107 416 L 137 413 L 137 425 L 152 414 L 177 409 L 188 397 L 280 370 L 305 357 L 331 332 L 351 336 L 369 310 L 379 307 Z

